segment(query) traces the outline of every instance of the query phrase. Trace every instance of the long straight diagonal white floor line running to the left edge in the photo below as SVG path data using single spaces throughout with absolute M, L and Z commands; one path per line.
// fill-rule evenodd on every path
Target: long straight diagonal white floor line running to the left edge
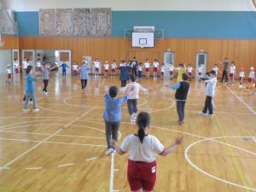
M 94 110 L 94 108 L 91 108 L 89 111 L 85 112 L 84 114 L 82 114 L 81 116 L 79 116 L 76 119 L 73 119 L 73 121 L 71 121 L 70 123 L 67 124 L 67 126 L 72 125 L 73 122 L 75 122 L 77 119 L 80 119 L 82 117 L 84 117 L 85 114 L 90 113 L 92 110 Z M 53 134 L 51 134 L 49 137 L 44 138 L 44 140 L 40 143 L 37 143 L 36 145 L 34 145 L 32 148 L 27 149 L 25 152 L 23 152 L 22 154 L 20 154 L 19 156 L 17 156 L 14 160 L 10 160 L 7 164 L 5 164 L 3 167 L 9 166 L 11 164 L 13 164 L 16 160 L 19 160 L 21 157 L 23 157 L 24 155 L 28 154 L 29 152 L 31 152 L 33 149 L 38 148 L 38 146 L 40 146 L 42 143 L 46 142 L 48 139 L 50 139 L 51 137 L 54 137 L 56 134 L 58 134 L 59 132 L 61 132 L 62 129 L 59 129 L 58 131 L 55 131 Z M 2 169 L 0 169 L 1 171 Z

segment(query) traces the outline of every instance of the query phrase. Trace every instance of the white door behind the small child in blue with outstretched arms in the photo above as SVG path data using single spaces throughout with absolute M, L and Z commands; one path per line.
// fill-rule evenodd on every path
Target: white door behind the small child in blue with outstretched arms
M 67 64 L 67 74 L 71 74 L 71 50 L 55 50 L 55 61 L 57 61 L 59 63 L 59 65 L 61 66 L 61 64 L 63 64 L 64 62 Z

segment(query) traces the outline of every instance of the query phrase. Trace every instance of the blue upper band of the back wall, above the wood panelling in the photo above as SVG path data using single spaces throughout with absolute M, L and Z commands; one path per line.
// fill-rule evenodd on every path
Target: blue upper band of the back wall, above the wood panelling
M 19 35 L 38 36 L 38 12 L 16 12 Z M 256 38 L 256 12 L 230 11 L 113 11 L 112 37 L 124 29 L 155 26 L 165 38 Z

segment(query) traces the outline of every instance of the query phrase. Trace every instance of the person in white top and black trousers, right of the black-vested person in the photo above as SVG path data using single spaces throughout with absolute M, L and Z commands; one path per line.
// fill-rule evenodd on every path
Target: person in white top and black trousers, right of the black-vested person
M 206 87 L 206 102 L 205 102 L 205 108 L 199 112 L 200 115 L 212 117 L 213 116 L 213 109 L 212 109 L 212 97 L 215 95 L 215 87 L 217 84 L 217 78 L 215 71 L 211 71 L 210 73 L 211 79 L 206 80 L 207 83 Z M 207 113 L 208 112 L 208 113 Z

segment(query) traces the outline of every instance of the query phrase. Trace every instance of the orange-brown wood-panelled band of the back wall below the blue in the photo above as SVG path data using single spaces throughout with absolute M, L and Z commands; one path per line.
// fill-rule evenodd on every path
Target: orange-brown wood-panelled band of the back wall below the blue
M 98 57 L 103 61 L 131 59 L 139 61 L 158 58 L 163 61 L 164 52 L 172 49 L 176 53 L 175 63 L 186 62 L 195 66 L 195 54 L 204 49 L 208 53 L 208 69 L 212 64 L 229 57 L 237 68 L 247 71 L 256 62 L 256 40 L 166 38 L 158 40 L 154 48 L 131 48 L 131 40 L 123 38 L 20 38 L 20 49 L 71 49 L 73 61 L 81 61 L 84 55 Z

